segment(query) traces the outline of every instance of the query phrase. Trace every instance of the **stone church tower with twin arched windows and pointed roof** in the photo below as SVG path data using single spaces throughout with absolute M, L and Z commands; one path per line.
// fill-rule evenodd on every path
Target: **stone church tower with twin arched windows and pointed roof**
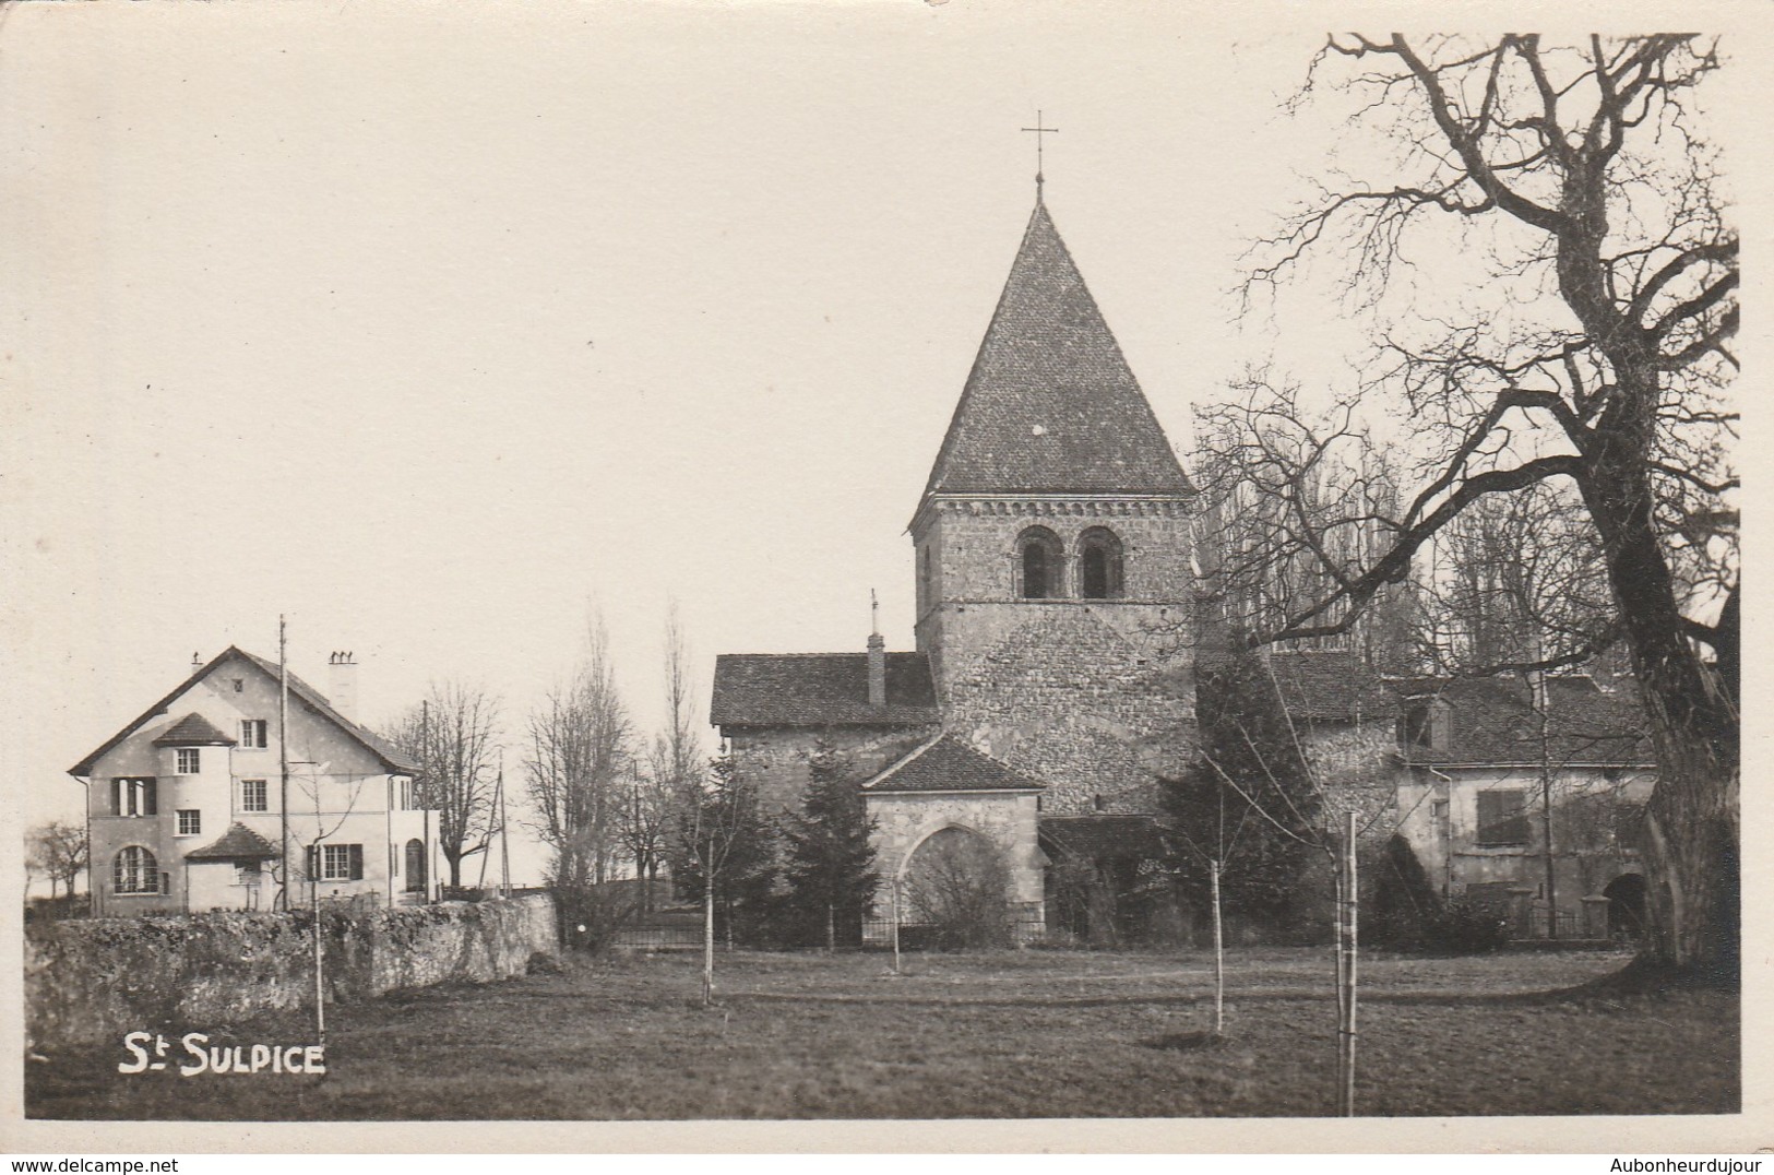
M 1048 811 L 1153 811 L 1192 733 L 1192 497 L 1036 188 L 910 532 L 944 726 Z

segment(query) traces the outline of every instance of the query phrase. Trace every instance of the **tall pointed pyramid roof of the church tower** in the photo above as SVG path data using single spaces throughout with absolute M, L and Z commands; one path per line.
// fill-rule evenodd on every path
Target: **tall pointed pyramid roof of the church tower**
M 924 486 L 942 492 L 1194 493 L 1040 199 Z

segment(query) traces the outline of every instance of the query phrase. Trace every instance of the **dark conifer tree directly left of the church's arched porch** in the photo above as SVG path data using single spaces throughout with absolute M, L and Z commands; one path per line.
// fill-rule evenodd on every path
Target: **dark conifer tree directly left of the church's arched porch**
M 797 939 L 857 946 L 878 877 L 862 788 L 823 738 L 807 761 L 802 809 L 788 818 L 788 902 Z

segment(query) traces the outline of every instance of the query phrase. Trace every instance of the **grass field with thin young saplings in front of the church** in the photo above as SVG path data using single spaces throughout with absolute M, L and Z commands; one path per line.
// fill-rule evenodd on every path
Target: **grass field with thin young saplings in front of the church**
M 1728 1113 L 1726 992 L 1572 992 L 1621 955 L 1370 958 L 1364 1115 Z M 1329 951 L 1004 951 L 573 960 L 561 974 L 328 1008 L 328 1074 L 122 1076 L 122 1049 L 27 1061 L 34 1118 L 1020 1118 L 1325 1115 Z M 229 1038 L 218 1026 L 190 1026 Z M 305 1040 L 300 1024 L 234 1038 Z

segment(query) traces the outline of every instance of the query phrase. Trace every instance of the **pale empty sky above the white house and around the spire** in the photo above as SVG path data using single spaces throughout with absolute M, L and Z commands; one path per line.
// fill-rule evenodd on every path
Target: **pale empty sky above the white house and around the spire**
M 12 5 L 9 815 L 280 614 L 371 726 L 484 683 L 513 779 L 593 612 L 642 729 L 672 598 L 704 705 L 717 653 L 860 651 L 871 588 L 912 648 L 1038 110 L 1173 444 L 1249 362 L 1346 373 L 1334 304 L 1231 296 L 1339 130 L 1277 108 L 1322 34 L 1105 12 Z

